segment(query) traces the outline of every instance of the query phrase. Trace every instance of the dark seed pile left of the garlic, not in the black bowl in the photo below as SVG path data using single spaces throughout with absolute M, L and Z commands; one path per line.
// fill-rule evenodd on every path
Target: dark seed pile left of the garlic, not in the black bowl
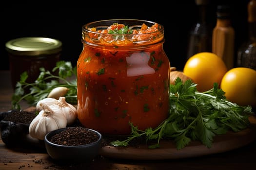
M 13 113 L 6 115 L 3 120 L 12 121 L 14 123 L 30 124 L 35 117 L 35 112 L 14 111 Z

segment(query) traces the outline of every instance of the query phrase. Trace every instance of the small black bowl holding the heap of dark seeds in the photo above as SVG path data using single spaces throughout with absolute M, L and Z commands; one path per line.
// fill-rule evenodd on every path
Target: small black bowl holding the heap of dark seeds
M 68 128 L 68 127 L 66 127 Z M 93 129 L 88 129 L 98 136 L 98 140 L 85 144 L 85 145 L 76 145 L 76 146 L 66 146 L 59 145 L 50 142 L 50 138 L 61 131 L 64 131 L 66 128 L 57 129 L 47 133 L 44 137 L 44 143 L 46 151 L 52 159 L 55 160 L 68 160 L 71 162 L 81 162 L 81 161 L 90 161 L 93 160 L 99 153 L 101 147 L 102 135 Z M 69 127 L 74 128 L 74 127 Z

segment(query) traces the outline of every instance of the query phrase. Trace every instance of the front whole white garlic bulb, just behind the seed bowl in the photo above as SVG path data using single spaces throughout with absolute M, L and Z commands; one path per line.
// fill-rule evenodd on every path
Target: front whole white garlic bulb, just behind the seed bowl
M 44 136 L 53 130 L 67 127 L 67 118 L 58 108 L 50 108 L 41 103 L 42 110 L 29 125 L 31 137 L 44 140 Z

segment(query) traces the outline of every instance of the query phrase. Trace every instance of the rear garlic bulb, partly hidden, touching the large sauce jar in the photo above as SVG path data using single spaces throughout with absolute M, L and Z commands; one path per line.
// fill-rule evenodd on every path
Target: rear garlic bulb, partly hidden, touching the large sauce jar
M 59 100 L 57 100 L 55 105 L 51 105 L 51 107 L 59 107 L 62 110 L 63 114 L 67 118 L 67 124 L 70 125 L 75 122 L 77 118 L 77 109 L 72 105 L 66 102 L 66 98 L 61 96 Z

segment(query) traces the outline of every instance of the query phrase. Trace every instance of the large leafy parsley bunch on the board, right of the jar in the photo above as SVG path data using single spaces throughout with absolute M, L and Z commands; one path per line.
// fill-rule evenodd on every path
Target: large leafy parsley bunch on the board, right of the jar
M 128 146 L 133 139 L 143 137 L 147 142 L 155 141 L 149 148 L 160 147 L 161 139 L 174 140 L 178 150 L 193 140 L 210 148 L 214 136 L 228 131 L 239 132 L 250 125 L 251 106 L 228 101 L 217 83 L 205 92 L 198 92 L 196 86 L 191 80 L 183 83 L 178 77 L 175 85 L 170 85 L 168 118 L 154 129 L 139 130 L 130 123 L 131 135 L 123 141 L 112 141 L 111 145 Z

